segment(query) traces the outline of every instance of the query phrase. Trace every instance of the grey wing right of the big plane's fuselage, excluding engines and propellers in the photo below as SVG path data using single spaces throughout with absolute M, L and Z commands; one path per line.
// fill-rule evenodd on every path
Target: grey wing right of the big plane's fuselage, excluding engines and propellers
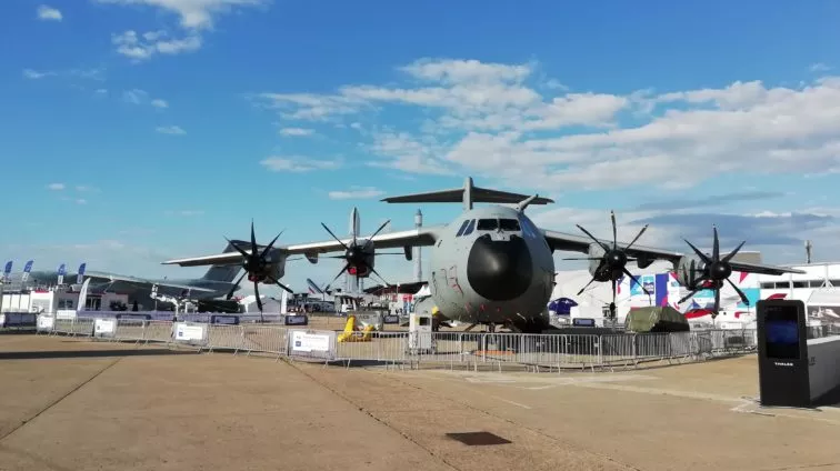
M 569 234 L 569 233 L 563 233 L 563 232 L 548 231 L 544 229 L 542 230 L 542 233 L 546 236 L 546 240 L 548 241 L 549 245 L 552 247 L 554 250 L 587 253 L 589 251 L 589 244 L 592 243 L 592 240 L 586 236 L 577 236 L 577 234 Z M 598 239 L 598 241 L 610 247 L 612 245 L 611 240 Z M 619 242 L 618 245 L 620 249 L 627 248 L 627 243 Z M 627 254 L 630 258 L 668 260 L 674 264 L 679 262 L 679 260 L 682 257 L 686 257 L 686 253 L 674 252 L 671 250 L 656 249 L 652 247 L 637 245 L 637 244 L 633 244 L 633 247 L 631 247 L 630 250 L 627 250 Z M 748 263 L 748 262 L 740 262 L 737 260 L 730 261 L 729 264 L 732 267 L 733 271 L 742 271 L 742 272 L 748 272 L 748 273 L 761 273 L 761 274 L 804 273 L 803 270 L 797 270 L 797 269 L 787 268 L 787 267 L 776 267 L 776 265 L 769 265 L 769 264 L 762 264 L 762 263 Z

